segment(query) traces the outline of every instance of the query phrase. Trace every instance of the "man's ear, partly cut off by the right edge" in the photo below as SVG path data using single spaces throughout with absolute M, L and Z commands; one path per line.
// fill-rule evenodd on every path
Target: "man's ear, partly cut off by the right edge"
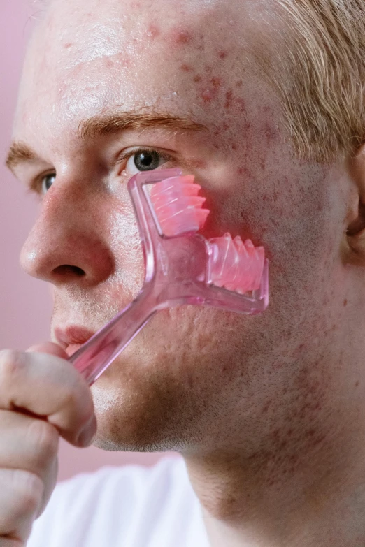
M 355 182 L 357 193 L 346 232 L 348 245 L 346 261 L 365 266 L 365 144 L 350 160 L 350 176 Z

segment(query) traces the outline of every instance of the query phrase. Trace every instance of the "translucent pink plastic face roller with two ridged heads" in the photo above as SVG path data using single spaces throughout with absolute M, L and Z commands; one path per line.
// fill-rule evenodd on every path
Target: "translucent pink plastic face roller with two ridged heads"
M 199 234 L 209 211 L 192 175 L 178 169 L 135 175 L 128 183 L 145 261 L 138 296 L 70 362 L 89 385 L 161 309 L 185 304 L 241 314 L 263 312 L 269 303 L 269 263 L 264 248 L 229 233 L 207 240 Z M 161 334 L 163 336 L 163 333 Z

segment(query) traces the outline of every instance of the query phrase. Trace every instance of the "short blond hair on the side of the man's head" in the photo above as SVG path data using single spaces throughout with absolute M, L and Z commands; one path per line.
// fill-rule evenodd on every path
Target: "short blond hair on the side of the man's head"
M 353 154 L 365 142 L 365 0 L 275 2 L 285 52 L 269 78 L 296 154 Z

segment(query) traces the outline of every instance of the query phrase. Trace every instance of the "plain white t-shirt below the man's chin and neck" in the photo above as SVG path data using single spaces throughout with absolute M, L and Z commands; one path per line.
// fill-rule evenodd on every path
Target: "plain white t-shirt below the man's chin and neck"
M 27 547 L 209 547 L 182 458 L 59 483 Z

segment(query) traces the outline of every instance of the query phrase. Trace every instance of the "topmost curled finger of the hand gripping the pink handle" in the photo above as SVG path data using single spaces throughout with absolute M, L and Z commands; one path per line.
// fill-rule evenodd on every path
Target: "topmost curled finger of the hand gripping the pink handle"
M 25 409 L 47 418 L 71 444 L 96 432 L 90 388 L 66 360 L 45 353 L 0 351 L 0 409 Z M 84 430 L 84 431 L 83 431 Z

